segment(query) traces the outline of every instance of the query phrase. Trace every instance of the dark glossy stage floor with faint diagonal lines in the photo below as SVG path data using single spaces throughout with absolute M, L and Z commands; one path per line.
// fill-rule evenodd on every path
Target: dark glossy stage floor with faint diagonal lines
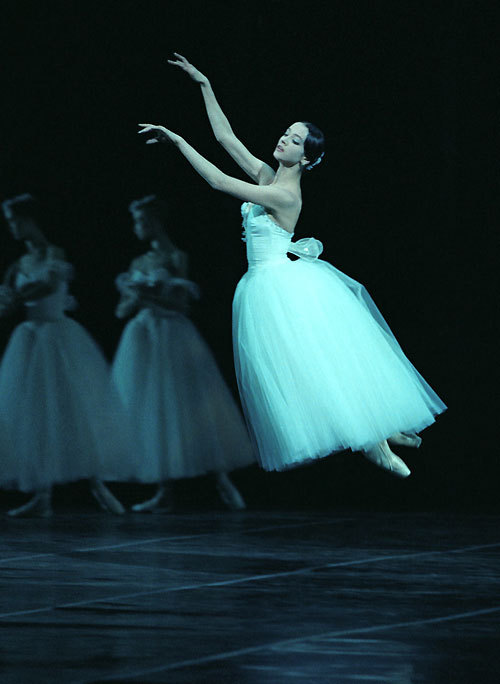
M 3 523 L 2 684 L 500 681 L 500 517 Z

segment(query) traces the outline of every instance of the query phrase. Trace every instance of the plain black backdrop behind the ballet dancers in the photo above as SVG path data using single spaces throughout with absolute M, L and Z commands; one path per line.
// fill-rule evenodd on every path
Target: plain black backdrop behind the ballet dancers
M 213 139 L 197 86 L 167 57 L 180 51 L 207 73 L 236 133 L 268 161 L 291 122 L 325 131 L 296 234 L 321 239 L 324 258 L 367 286 L 450 408 L 406 454 L 408 481 L 340 454 L 240 473 L 251 502 L 498 507 L 495 2 L 16 1 L 2 3 L 1 19 L 0 196 L 30 191 L 45 203 L 48 235 L 77 269 L 75 317 L 109 358 L 122 327 L 113 280 L 141 249 L 127 204 L 156 192 L 203 291 L 194 320 L 236 392 L 238 202 L 174 149 L 144 145 L 136 124 L 164 123 L 242 176 Z M 21 248 L 5 224 L 1 240 L 5 269 Z M 14 322 L 0 322 L 2 345 Z M 190 487 L 203 498 L 203 483 Z

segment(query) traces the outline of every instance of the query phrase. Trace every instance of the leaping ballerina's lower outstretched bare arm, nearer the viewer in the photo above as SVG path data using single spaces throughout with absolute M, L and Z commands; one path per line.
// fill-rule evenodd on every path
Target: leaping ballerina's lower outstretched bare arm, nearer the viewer
M 293 194 L 275 185 L 254 185 L 233 178 L 223 173 L 215 164 L 205 159 L 192 145 L 180 135 L 164 126 L 154 124 L 139 124 L 139 133 L 153 133 L 154 137 L 146 141 L 147 144 L 157 142 L 171 142 L 184 155 L 194 170 L 212 187 L 227 195 L 237 197 L 242 201 L 260 204 L 267 209 L 279 211 L 292 207 L 296 203 Z

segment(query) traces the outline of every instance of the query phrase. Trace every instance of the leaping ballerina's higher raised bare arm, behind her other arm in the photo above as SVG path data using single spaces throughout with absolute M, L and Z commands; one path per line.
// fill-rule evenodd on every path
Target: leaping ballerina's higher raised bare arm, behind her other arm
M 201 86 L 201 94 L 203 95 L 203 100 L 205 102 L 205 109 L 207 110 L 208 119 L 217 142 L 222 145 L 238 166 L 243 169 L 253 181 L 259 183 L 259 185 L 270 183 L 274 178 L 273 169 L 268 164 L 257 159 L 257 157 L 249 152 L 241 140 L 236 137 L 231 124 L 217 102 L 217 98 L 215 97 L 215 93 L 208 78 L 178 52 L 174 52 L 174 55 L 177 59 L 169 59 L 168 63 L 182 69 L 195 83 L 198 83 Z

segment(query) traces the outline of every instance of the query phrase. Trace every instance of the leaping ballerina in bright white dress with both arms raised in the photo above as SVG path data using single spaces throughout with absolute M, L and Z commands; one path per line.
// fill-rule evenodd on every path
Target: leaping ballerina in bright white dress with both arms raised
M 267 470 L 282 470 L 344 449 L 407 477 L 389 443 L 418 447 L 445 404 L 406 358 L 365 288 L 318 259 L 322 245 L 292 242 L 302 208 L 301 179 L 324 156 L 322 132 L 296 121 L 273 152 L 278 170 L 235 136 L 210 82 L 182 55 L 169 63 L 201 87 L 218 142 L 250 176 L 223 173 L 184 138 L 153 124 L 147 143 L 169 142 L 218 191 L 243 200 L 249 268 L 233 300 L 238 386 Z M 288 258 L 295 254 L 297 260 Z

